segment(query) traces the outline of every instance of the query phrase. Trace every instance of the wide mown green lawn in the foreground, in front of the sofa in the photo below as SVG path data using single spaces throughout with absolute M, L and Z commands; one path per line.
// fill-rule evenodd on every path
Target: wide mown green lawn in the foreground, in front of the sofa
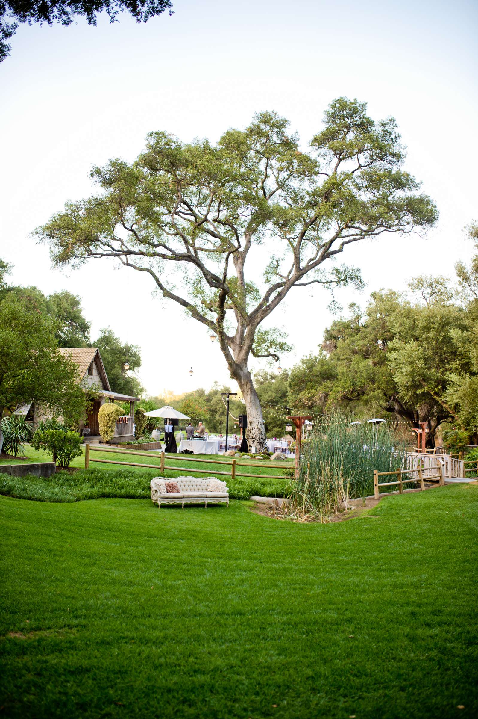
M 0 497 L 2 715 L 476 715 L 478 486 L 250 506 Z

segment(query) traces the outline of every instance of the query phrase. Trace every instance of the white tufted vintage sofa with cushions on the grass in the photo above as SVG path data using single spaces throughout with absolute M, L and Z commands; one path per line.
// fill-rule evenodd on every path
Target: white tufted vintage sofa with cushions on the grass
M 179 492 L 167 493 L 165 482 L 177 482 Z M 162 504 L 202 504 L 207 507 L 209 504 L 226 503 L 229 507 L 229 494 L 227 493 L 226 482 L 216 480 L 216 477 L 174 477 L 164 479 L 155 477 L 151 480 L 151 499 L 157 504 L 158 509 Z

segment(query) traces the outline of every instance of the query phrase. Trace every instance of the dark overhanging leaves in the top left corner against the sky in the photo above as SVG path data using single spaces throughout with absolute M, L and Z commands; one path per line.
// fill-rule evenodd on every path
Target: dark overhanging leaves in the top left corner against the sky
M 165 10 L 173 14 L 170 0 L 3 0 L 0 2 L 0 63 L 10 54 L 8 40 L 19 24 L 32 25 L 60 23 L 70 25 L 75 17 L 86 17 L 88 24 L 96 25 L 101 12 L 115 22 L 125 10 L 137 22 L 147 22 Z

